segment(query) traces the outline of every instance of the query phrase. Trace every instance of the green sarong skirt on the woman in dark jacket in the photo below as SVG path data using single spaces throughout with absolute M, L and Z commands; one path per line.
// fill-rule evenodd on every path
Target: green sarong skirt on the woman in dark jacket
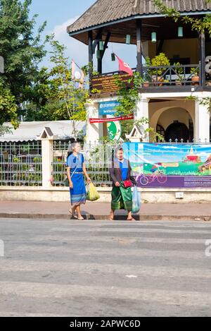
M 124 209 L 129 212 L 132 211 L 132 191 L 130 187 L 125 188 L 123 183 L 121 183 L 120 187 L 113 186 L 111 197 L 112 210 Z

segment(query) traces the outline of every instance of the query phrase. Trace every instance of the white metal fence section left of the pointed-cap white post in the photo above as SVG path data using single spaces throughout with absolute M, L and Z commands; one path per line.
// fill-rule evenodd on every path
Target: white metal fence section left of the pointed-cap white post
M 41 143 L 0 143 L 0 186 L 41 186 Z

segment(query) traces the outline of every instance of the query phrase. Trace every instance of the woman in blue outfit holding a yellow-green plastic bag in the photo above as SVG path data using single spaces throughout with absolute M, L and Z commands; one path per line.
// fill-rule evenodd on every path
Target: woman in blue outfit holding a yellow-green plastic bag
M 84 155 L 80 153 L 80 144 L 78 142 L 71 144 L 72 152 L 67 158 L 67 175 L 70 185 L 70 201 L 71 209 L 69 210 L 72 217 L 77 212 L 77 219 L 82 220 L 80 205 L 86 203 L 87 192 L 84 183 L 84 176 L 87 178 L 87 183 L 91 183 L 91 179 L 87 174 L 87 169 L 84 164 Z

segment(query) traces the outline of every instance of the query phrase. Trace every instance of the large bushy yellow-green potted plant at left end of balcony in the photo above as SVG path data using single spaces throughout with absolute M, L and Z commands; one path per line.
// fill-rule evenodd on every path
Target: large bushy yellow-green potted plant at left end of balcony
M 159 66 L 160 68 L 154 68 L 153 69 L 153 80 L 154 83 L 158 83 L 158 86 L 162 85 L 162 82 L 164 78 L 162 78 L 162 73 L 165 71 L 165 68 L 162 68 L 161 66 L 170 66 L 170 60 L 167 58 L 167 56 L 164 53 L 160 53 L 153 57 L 151 61 L 151 66 Z M 158 76 L 157 76 L 158 75 Z

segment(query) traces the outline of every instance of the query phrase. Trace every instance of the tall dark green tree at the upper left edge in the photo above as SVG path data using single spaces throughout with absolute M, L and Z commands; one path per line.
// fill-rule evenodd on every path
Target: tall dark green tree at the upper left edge
M 39 74 L 39 61 L 46 54 L 34 25 L 37 16 L 29 18 L 32 0 L 0 0 L 0 55 L 4 56 L 5 73 L 0 80 L 11 90 L 16 104 L 27 100 L 27 88 Z

